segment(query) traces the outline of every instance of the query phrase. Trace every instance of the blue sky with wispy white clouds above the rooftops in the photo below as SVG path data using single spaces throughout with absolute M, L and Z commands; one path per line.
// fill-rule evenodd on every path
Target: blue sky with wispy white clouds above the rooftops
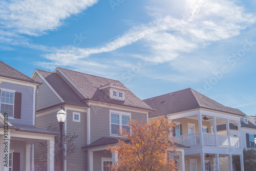
M 186 88 L 256 113 L 256 2 L 0 2 L 0 60 L 120 80 L 145 99 Z

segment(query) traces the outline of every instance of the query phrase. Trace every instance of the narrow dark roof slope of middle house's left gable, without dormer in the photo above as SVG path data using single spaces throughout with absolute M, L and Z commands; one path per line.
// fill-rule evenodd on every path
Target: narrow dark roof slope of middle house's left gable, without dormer
M 58 74 L 38 69 L 36 70 L 47 80 L 65 103 L 89 107 L 86 103 L 81 102 L 81 98 Z

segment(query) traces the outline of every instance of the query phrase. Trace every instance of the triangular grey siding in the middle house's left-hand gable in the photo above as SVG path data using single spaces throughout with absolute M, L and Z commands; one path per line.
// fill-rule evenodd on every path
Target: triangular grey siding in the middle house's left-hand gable
M 61 100 L 47 86 L 44 80 L 42 80 L 38 75 L 36 75 L 35 80 L 43 83 L 39 86 L 39 92 L 36 94 L 36 110 L 61 103 Z

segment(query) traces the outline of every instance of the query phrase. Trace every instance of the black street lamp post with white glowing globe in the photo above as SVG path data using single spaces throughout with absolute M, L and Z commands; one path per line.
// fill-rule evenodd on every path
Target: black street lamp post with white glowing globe
M 63 161 L 64 161 L 64 155 L 63 155 L 63 125 L 66 120 L 67 113 L 63 111 L 63 109 L 59 110 L 57 112 L 57 119 L 59 122 L 59 130 L 60 130 L 60 171 L 63 171 Z

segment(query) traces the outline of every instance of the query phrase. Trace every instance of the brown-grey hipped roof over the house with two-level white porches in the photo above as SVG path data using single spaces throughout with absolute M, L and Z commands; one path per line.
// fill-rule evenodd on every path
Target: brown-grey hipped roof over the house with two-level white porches
M 224 106 L 190 88 L 148 98 L 143 101 L 156 110 L 151 112 L 148 117 L 157 117 L 198 108 L 245 116 L 240 110 Z

